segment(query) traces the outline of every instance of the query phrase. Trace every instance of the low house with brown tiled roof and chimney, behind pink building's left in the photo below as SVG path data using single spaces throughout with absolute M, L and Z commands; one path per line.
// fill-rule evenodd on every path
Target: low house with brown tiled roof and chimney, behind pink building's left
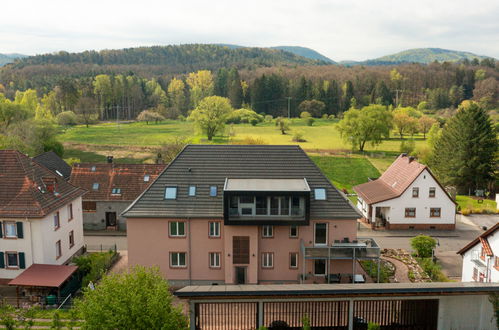
M 165 169 L 156 164 L 75 164 L 70 182 L 88 191 L 83 196 L 85 230 L 126 230 L 120 214 Z

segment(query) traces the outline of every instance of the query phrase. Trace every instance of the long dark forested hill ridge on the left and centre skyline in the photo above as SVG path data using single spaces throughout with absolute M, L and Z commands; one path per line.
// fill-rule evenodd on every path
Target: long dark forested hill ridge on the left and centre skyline
M 14 68 L 45 64 L 162 65 L 169 72 L 188 72 L 220 67 L 327 64 L 283 50 L 268 48 L 231 48 L 223 45 L 189 44 L 111 49 L 31 56 L 18 60 Z

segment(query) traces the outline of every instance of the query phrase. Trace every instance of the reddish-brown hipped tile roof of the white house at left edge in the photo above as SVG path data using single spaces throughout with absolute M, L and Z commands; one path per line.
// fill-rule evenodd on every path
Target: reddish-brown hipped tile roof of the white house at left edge
M 44 180 L 54 180 L 56 193 Z M 84 193 L 19 151 L 0 150 L 0 216 L 41 218 Z

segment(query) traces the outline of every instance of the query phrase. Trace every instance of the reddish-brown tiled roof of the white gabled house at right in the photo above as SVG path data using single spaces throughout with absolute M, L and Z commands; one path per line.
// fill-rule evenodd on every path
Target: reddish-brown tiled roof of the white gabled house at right
M 425 169 L 427 167 L 413 157 L 401 154 L 381 177 L 357 185 L 353 190 L 368 204 L 386 201 L 402 195 Z

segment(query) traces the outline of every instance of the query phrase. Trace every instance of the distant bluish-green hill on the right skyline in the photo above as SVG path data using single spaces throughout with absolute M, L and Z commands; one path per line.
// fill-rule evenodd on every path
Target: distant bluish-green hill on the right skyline
M 432 63 L 438 62 L 458 62 L 458 61 L 473 61 L 474 59 L 482 60 L 487 56 L 476 55 L 469 52 L 461 52 L 457 50 L 441 49 L 441 48 L 415 48 L 408 49 L 402 52 L 382 56 L 376 59 L 361 62 L 364 65 L 389 65 L 399 63 Z

